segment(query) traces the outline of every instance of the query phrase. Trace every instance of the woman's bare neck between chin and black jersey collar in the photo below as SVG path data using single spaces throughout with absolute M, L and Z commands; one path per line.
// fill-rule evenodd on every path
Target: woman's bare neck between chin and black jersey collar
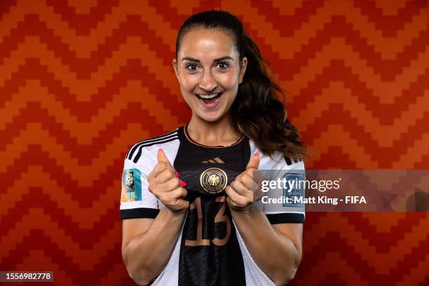
M 233 128 L 230 114 L 216 122 L 204 121 L 192 115 L 187 131 L 193 141 L 207 146 L 229 146 L 241 137 Z

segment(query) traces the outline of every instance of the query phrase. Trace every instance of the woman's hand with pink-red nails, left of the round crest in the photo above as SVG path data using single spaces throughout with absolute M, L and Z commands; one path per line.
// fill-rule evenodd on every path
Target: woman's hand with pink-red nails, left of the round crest
M 163 149 L 158 150 L 157 158 L 158 164 L 147 177 L 149 191 L 172 212 L 186 212 L 189 209 L 189 201 L 184 200 L 187 191 L 183 187 L 186 183 L 179 179 Z

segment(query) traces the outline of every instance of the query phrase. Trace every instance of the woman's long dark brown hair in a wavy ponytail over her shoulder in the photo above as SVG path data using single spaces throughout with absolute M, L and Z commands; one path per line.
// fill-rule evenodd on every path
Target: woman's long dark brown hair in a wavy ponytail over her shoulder
M 191 15 L 177 34 L 176 58 L 184 34 L 200 27 L 229 33 L 240 54 L 240 63 L 247 57 L 245 76 L 231 107 L 231 117 L 238 132 L 252 139 L 265 154 L 280 151 L 292 158 L 306 156 L 308 148 L 301 141 L 298 129 L 287 119 L 287 111 L 278 99 L 278 95 L 282 95 L 284 100 L 285 93 L 271 79 L 266 60 L 247 35 L 240 19 L 229 12 L 215 10 Z

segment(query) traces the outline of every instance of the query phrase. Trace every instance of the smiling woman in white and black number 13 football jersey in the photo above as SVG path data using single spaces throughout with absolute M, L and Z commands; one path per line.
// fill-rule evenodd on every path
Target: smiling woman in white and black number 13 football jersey
M 139 285 L 286 284 L 301 261 L 304 212 L 259 211 L 253 176 L 304 169 L 297 158 L 306 148 L 275 97 L 280 88 L 243 24 L 224 11 L 184 22 L 172 64 L 192 116 L 126 155 L 130 277 Z

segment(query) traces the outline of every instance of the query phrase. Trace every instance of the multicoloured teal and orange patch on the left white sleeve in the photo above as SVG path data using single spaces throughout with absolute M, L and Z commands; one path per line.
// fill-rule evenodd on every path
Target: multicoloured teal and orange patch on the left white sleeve
M 142 175 L 137 169 L 123 170 L 121 202 L 142 200 Z

